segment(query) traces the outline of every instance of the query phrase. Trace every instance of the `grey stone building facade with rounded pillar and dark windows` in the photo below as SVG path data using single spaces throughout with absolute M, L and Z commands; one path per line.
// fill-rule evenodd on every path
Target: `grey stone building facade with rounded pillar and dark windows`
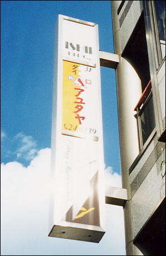
M 127 255 L 165 255 L 165 1 L 111 1 Z

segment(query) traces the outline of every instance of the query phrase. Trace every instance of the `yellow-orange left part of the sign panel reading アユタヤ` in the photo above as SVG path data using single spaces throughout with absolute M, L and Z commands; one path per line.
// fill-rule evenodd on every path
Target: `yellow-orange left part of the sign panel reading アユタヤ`
M 62 129 L 64 130 L 75 131 L 85 119 L 81 114 L 85 102 L 82 94 L 84 89 L 81 88 L 84 87 L 84 83 L 79 76 L 79 67 L 77 63 L 63 61 Z

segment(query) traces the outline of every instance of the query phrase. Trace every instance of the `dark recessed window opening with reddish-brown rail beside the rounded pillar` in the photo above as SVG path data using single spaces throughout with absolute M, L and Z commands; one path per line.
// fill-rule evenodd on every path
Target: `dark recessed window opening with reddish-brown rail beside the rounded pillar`
M 138 142 L 139 149 L 141 150 L 155 128 L 153 94 L 143 13 L 124 48 L 122 57 L 132 64 L 142 85 L 142 96 L 134 108 L 134 111 L 137 111 L 135 117 L 137 118 Z

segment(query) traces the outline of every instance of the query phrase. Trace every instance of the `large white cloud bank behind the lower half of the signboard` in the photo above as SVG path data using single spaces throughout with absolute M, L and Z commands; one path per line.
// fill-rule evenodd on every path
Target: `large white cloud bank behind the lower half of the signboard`
M 45 148 L 28 167 L 1 164 L 2 255 L 125 255 L 123 209 L 114 205 L 105 204 L 107 232 L 99 244 L 48 237 L 50 162 Z M 106 173 L 117 186 L 120 175 Z

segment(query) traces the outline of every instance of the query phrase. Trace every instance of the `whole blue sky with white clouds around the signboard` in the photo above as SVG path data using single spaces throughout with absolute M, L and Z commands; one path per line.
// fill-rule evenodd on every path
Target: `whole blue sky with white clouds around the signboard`
M 46 194 L 49 190 L 46 180 L 51 154 L 54 27 L 58 14 L 97 23 L 100 50 L 114 52 L 110 1 L 1 1 L 2 255 L 125 255 L 120 207 L 105 205 L 109 228 L 98 245 L 48 238 L 48 230 L 45 230 Z M 105 175 L 109 185 L 119 187 L 117 96 L 113 69 L 101 67 L 101 84 Z M 41 180 L 39 184 L 38 179 Z M 33 191 L 32 195 L 29 189 Z M 39 190 L 42 190 L 41 194 L 38 194 Z M 47 205 L 44 209 L 41 197 Z M 41 203 L 37 204 L 37 209 L 34 198 Z M 43 218 L 36 222 L 39 209 Z M 37 223 L 43 232 L 42 238 L 39 231 L 30 230 L 23 215 L 18 218 L 18 212 L 26 216 L 29 223 L 31 220 Z M 11 226 L 18 232 L 10 237 L 10 245 Z M 68 250 L 66 246 L 69 246 Z

